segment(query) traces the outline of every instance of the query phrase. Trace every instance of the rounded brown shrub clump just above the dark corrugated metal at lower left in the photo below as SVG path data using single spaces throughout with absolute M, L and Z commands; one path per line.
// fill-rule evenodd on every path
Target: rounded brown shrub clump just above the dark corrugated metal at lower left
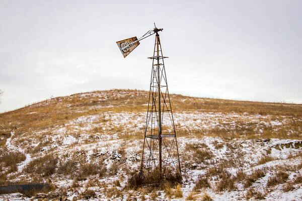
M 23 170 L 26 173 L 36 173 L 42 176 L 50 176 L 57 167 L 58 158 L 53 155 L 45 155 L 43 157 L 32 160 Z

